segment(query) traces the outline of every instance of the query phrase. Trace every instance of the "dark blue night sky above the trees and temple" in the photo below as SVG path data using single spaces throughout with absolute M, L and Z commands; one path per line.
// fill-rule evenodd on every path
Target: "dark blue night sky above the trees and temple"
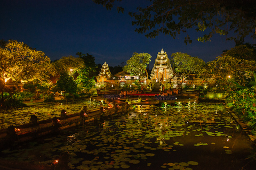
M 194 41 L 189 45 L 184 43 L 184 35 L 148 39 L 134 31 L 133 18 L 127 14 L 135 10 L 138 1 L 123 1 L 127 7 L 124 13 L 118 13 L 116 7 L 108 11 L 92 0 L 1 0 L 0 39 L 23 41 L 42 50 L 52 61 L 82 52 L 93 55 L 96 64 L 116 66 L 129 60 L 133 52 L 149 53 L 150 69 L 162 48 L 169 58 L 172 53 L 182 52 L 209 62 L 235 46 L 218 35 L 210 42 L 198 42 L 196 31 L 191 31 Z

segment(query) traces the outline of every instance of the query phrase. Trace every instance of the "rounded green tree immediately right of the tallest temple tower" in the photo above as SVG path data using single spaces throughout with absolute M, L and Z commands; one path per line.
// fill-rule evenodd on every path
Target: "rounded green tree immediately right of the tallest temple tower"
M 186 79 L 191 74 L 197 74 L 202 66 L 205 65 L 205 62 L 202 59 L 198 57 L 192 57 L 187 53 L 177 52 L 173 53 L 171 57 L 173 70 L 176 73 L 182 74 L 182 80 Z

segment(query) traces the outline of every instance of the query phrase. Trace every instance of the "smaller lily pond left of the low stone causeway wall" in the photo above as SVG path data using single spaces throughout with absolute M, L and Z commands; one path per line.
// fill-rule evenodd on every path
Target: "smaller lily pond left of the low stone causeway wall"
M 53 117 L 60 117 L 62 109 L 67 111 L 67 115 L 79 113 L 83 106 L 87 106 L 88 110 L 99 108 L 100 103 L 93 100 L 77 100 L 72 103 L 55 103 L 47 105 L 35 105 L 22 108 L 11 108 L 0 110 L 1 129 L 5 129 L 10 125 L 18 126 L 29 123 L 30 115 L 35 114 L 38 121 L 49 120 Z M 107 104 L 103 104 L 107 106 Z

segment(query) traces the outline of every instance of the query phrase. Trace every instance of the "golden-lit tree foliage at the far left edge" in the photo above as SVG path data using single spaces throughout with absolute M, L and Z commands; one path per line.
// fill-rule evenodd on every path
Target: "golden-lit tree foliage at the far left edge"
M 1 43 L 0 76 L 2 80 L 11 79 L 13 83 L 22 81 L 44 82 L 50 80 L 55 70 L 50 58 L 42 51 L 30 48 L 23 42 L 9 40 Z

